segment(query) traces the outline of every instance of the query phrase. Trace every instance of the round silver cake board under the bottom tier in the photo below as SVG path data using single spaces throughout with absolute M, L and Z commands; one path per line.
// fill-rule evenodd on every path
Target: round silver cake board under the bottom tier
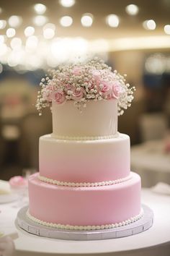
M 142 205 L 143 217 L 134 223 L 130 223 L 126 226 L 120 226 L 113 229 L 101 229 L 91 231 L 76 231 L 66 229 L 56 229 L 51 227 L 42 226 L 27 217 L 28 207 L 24 207 L 19 210 L 17 214 L 16 225 L 24 231 L 37 236 L 43 236 L 53 239 L 64 240 L 102 240 L 102 239 L 114 239 L 125 236 L 132 236 L 140 232 L 146 231 L 153 225 L 153 211 L 146 205 Z

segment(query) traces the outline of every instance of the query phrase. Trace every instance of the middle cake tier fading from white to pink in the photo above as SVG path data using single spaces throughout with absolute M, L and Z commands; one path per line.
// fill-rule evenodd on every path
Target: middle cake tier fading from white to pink
M 106 182 L 130 174 L 130 137 L 57 140 L 40 137 L 40 176 L 61 182 Z

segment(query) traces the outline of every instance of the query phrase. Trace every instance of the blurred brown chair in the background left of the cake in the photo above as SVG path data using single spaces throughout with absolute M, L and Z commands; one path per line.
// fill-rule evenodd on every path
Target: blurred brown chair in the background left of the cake
M 44 110 L 42 116 L 27 114 L 22 120 L 22 140 L 20 156 L 22 167 L 38 168 L 39 137 L 52 132 L 50 111 Z

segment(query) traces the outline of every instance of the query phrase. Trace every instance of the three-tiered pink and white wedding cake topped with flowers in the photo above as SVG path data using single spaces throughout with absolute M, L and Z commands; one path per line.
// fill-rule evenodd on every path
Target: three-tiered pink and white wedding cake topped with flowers
M 74 230 L 137 221 L 140 176 L 130 172 L 130 137 L 117 132 L 117 114 L 130 106 L 134 88 L 100 59 L 61 65 L 50 76 L 40 83 L 37 109 L 52 103 L 53 133 L 40 137 L 27 216 Z

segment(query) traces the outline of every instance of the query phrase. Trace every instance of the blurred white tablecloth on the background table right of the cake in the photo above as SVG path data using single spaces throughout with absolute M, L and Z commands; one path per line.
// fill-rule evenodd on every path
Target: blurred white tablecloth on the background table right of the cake
M 170 152 L 165 153 L 164 141 L 131 147 L 131 170 L 140 174 L 143 187 L 152 187 L 158 182 L 170 184 Z

